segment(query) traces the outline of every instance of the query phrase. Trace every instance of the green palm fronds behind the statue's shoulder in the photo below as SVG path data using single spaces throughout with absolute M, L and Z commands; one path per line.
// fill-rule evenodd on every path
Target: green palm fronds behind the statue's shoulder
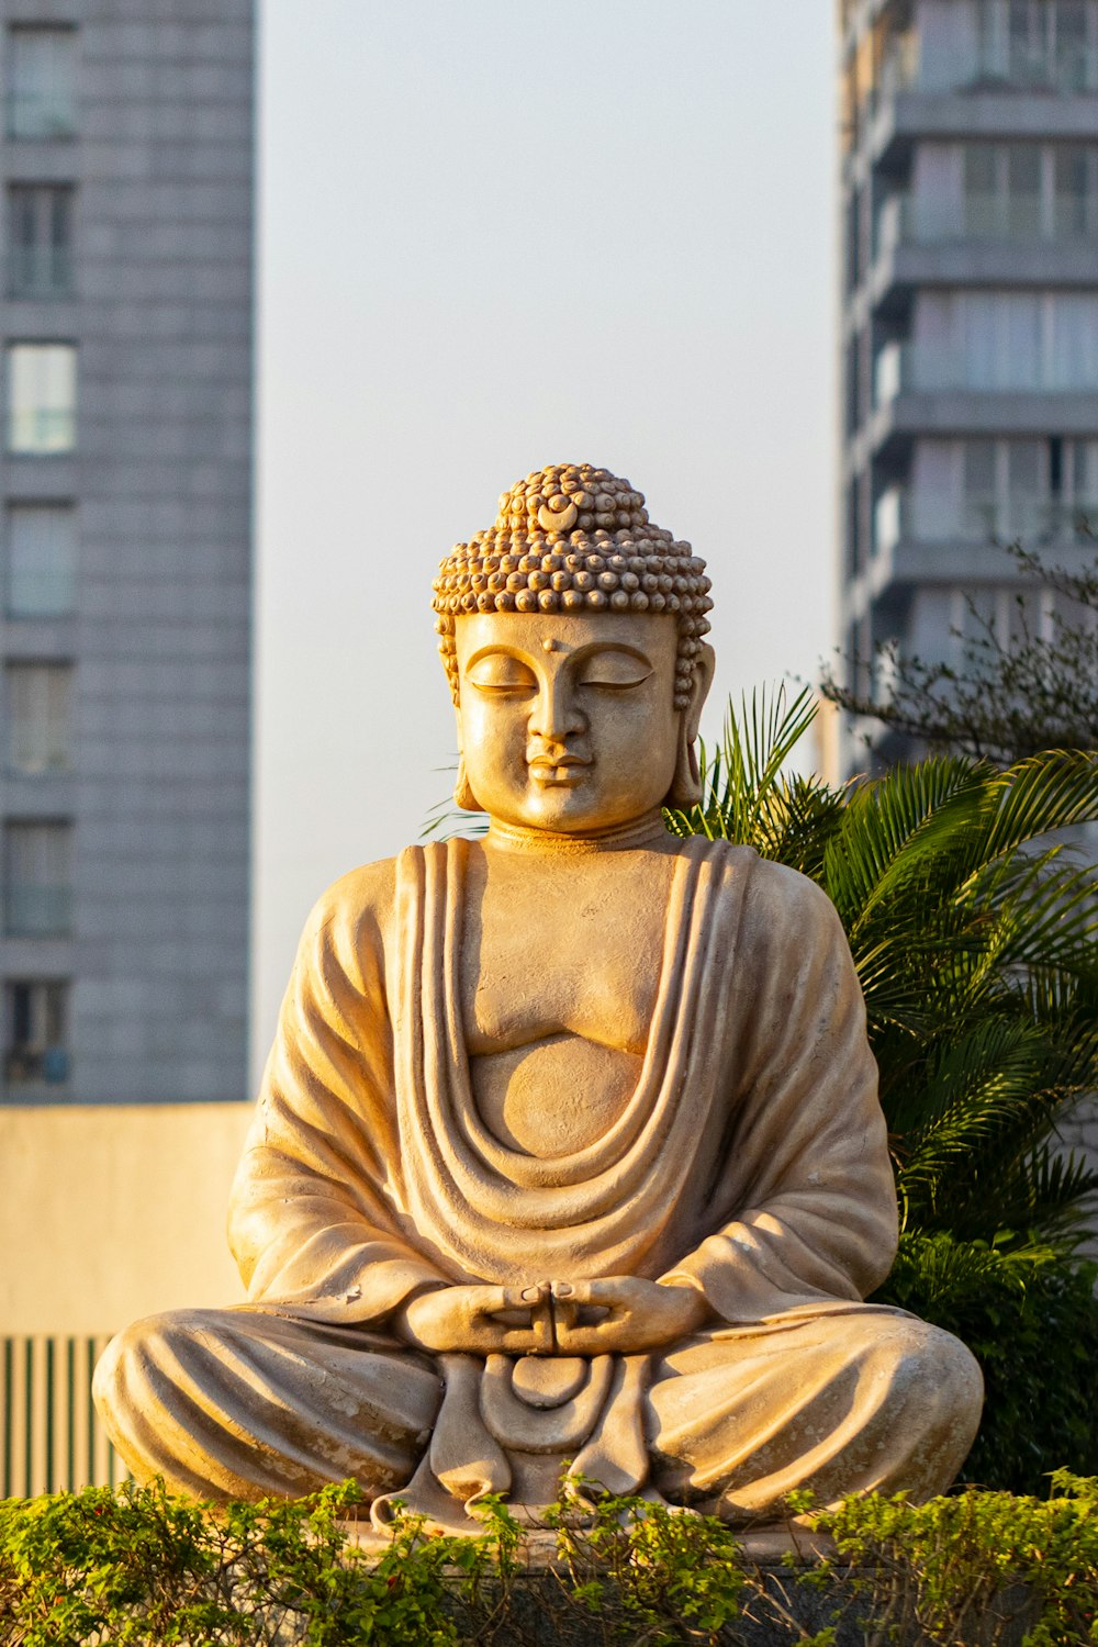
M 938 756 L 841 789 L 785 776 L 807 692 L 729 715 L 680 835 L 754 847 L 835 903 L 866 996 L 909 1229 L 1070 1243 L 1098 1178 L 1054 1158 L 1098 1087 L 1093 866 L 1050 832 L 1098 819 L 1098 754 L 999 771 Z

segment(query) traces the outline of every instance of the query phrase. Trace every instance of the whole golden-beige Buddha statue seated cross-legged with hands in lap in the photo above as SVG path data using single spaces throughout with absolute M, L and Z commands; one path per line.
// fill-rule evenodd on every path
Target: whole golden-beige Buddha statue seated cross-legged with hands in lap
M 356 1477 L 476 1530 L 561 1469 L 731 1522 L 940 1492 L 979 1370 L 861 1299 L 896 1191 L 838 916 L 700 794 L 710 581 L 629 483 L 542 469 L 435 581 L 481 840 L 337 881 L 232 1191 L 249 1303 L 138 1323 L 95 1395 L 138 1479 Z

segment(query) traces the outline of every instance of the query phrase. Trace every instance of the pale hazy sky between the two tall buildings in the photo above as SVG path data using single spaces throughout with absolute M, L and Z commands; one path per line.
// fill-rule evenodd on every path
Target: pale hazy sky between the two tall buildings
M 430 583 L 547 463 L 713 578 L 716 684 L 835 641 L 825 0 L 267 0 L 254 1071 L 323 888 L 451 786 Z

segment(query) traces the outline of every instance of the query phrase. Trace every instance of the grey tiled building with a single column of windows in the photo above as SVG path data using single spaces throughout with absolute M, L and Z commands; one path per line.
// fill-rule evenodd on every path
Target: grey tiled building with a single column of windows
M 245 1097 L 252 0 L 2 0 L 2 1100 Z

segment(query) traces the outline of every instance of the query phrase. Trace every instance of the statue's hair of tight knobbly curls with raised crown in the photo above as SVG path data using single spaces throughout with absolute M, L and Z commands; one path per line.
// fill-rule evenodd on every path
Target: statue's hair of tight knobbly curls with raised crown
M 691 700 L 711 609 L 705 562 L 652 525 L 644 496 L 609 469 L 555 463 L 515 481 L 495 524 L 454 544 L 433 583 L 435 628 L 458 702 L 463 613 L 668 613 L 678 623 L 675 708 Z

